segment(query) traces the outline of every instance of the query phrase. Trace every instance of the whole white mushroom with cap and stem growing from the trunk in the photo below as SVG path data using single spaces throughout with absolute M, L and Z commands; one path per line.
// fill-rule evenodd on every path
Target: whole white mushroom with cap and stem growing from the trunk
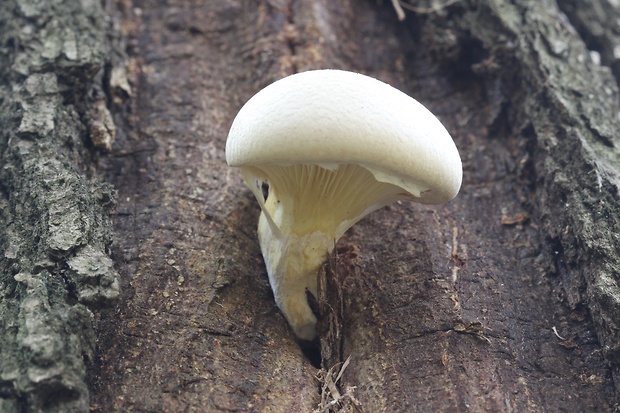
M 316 336 L 306 292 L 317 296 L 318 270 L 347 229 L 398 200 L 447 202 L 463 173 L 450 134 L 428 109 L 341 70 L 294 74 L 254 95 L 233 121 L 226 161 L 260 204 L 269 282 L 302 340 Z

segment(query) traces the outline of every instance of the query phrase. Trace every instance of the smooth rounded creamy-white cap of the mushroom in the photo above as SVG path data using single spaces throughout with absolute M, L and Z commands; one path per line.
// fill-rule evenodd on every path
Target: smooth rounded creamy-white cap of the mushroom
M 450 134 L 422 104 L 357 73 L 316 70 L 281 79 L 239 111 L 228 141 L 231 166 L 356 164 L 414 200 L 438 204 L 461 186 Z

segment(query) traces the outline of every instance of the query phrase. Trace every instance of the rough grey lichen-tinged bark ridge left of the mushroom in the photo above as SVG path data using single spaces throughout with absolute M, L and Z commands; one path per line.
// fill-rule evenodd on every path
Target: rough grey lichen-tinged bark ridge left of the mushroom
M 0 6 L 0 411 L 89 408 L 91 309 L 119 294 L 106 247 L 114 191 L 88 136 L 109 135 L 96 1 Z

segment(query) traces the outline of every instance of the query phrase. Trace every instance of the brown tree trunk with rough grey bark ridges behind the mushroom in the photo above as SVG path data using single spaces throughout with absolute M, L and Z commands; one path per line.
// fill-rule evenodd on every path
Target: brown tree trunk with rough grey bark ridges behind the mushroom
M 5 0 L 0 411 L 614 411 L 620 9 L 580 5 Z M 464 182 L 345 234 L 300 346 L 224 148 L 318 68 L 422 102 Z

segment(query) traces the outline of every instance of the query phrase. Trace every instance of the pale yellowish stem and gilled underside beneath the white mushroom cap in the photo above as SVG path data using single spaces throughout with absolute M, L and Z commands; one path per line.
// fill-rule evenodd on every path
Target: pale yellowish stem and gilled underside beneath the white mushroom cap
M 412 198 L 358 165 L 269 165 L 243 168 L 261 205 L 258 237 L 275 301 L 295 334 L 316 335 L 306 291 L 317 296 L 317 274 L 338 239 L 370 212 Z M 265 200 L 261 183 L 269 184 Z M 254 185 L 253 185 L 254 184 Z

